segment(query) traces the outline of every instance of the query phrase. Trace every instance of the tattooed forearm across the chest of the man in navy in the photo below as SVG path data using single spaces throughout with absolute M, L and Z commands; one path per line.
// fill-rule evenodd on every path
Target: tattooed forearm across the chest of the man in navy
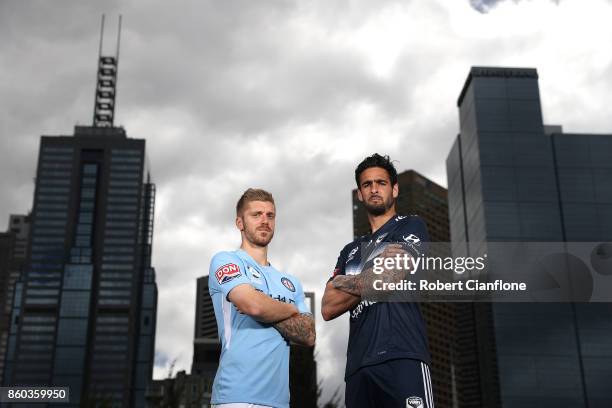
M 393 258 L 396 255 L 404 255 L 406 250 L 399 244 L 387 245 L 382 258 Z M 374 281 L 380 280 L 383 283 L 400 282 L 410 273 L 409 269 L 385 269 L 381 274 L 376 274 L 373 268 L 367 268 L 358 275 L 338 275 L 331 282 L 334 288 L 353 296 L 363 298 L 367 293 L 374 291 Z

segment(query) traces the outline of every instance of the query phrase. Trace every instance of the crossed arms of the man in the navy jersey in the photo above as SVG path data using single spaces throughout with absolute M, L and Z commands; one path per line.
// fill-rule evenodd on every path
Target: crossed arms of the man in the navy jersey
M 391 258 L 406 253 L 399 244 L 387 245 L 380 257 Z M 375 274 L 373 268 L 364 269 L 358 275 L 337 275 L 327 282 L 321 300 L 321 314 L 324 320 L 332 320 L 347 310 L 354 308 L 364 295 L 373 289 L 375 280 L 383 282 L 400 282 L 409 273 L 408 270 L 390 269 L 382 274 Z

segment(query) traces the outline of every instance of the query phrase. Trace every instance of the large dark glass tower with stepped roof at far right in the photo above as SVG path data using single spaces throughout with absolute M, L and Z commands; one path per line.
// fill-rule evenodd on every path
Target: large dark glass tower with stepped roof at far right
M 612 135 L 545 127 L 535 69 L 474 67 L 458 106 L 454 256 L 495 241 L 612 240 Z M 464 323 L 475 360 L 457 373 L 470 390 L 461 407 L 612 406 L 610 304 L 481 304 Z

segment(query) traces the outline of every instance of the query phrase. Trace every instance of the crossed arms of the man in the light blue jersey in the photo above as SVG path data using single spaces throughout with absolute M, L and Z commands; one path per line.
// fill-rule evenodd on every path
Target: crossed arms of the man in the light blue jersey
M 294 305 L 274 300 L 248 284 L 233 288 L 228 298 L 240 312 L 259 322 L 271 323 L 286 340 L 314 346 L 316 333 L 310 313 L 300 313 Z

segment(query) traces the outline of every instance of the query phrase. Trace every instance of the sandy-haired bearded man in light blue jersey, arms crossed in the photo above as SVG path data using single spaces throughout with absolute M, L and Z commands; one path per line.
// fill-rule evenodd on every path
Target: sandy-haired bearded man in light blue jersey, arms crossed
M 248 189 L 236 204 L 240 249 L 210 263 L 210 296 L 221 338 L 211 402 L 218 408 L 289 408 L 289 342 L 312 347 L 314 319 L 293 276 L 268 262 L 276 207 Z

